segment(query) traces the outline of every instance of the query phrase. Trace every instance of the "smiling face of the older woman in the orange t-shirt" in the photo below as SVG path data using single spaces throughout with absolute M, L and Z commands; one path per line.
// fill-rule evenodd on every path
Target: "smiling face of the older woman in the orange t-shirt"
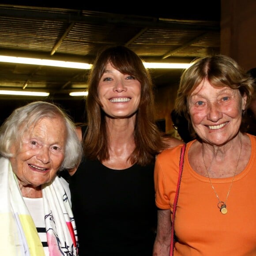
M 246 95 L 230 87 L 213 87 L 204 79 L 188 98 L 188 112 L 198 136 L 222 145 L 239 131 Z

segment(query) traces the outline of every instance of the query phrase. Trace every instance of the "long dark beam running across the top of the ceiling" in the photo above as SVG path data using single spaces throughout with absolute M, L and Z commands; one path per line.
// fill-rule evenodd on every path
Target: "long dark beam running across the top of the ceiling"
M 52 8 L 53 9 L 53 8 Z M 59 9 L 57 9 L 59 10 Z M 91 15 L 90 15 L 91 13 Z M 99 12 L 96 12 L 99 13 Z M 86 15 L 81 14 L 81 11 L 74 10 L 64 11 L 44 11 L 40 10 L 24 10 L 24 9 L 9 9 L 0 7 L 0 16 L 18 19 L 36 19 L 36 20 L 52 20 L 67 23 L 88 23 L 88 24 L 119 24 L 128 26 L 143 26 L 143 27 L 157 27 L 169 28 L 178 30 L 220 30 L 219 22 L 216 21 L 190 21 L 187 20 L 173 20 L 173 19 L 158 19 L 140 16 L 138 19 L 132 15 L 117 15 L 99 13 L 95 15 L 93 11 L 87 11 Z M 123 18 L 125 19 L 123 19 Z M 142 20 L 144 19 L 144 20 Z

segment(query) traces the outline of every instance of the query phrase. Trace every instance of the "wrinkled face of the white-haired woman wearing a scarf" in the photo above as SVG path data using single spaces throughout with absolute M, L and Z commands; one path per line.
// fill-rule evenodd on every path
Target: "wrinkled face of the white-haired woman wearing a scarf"
M 38 187 L 53 180 L 64 160 L 66 127 L 63 120 L 41 119 L 22 136 L 22 147 L 14 145 L 10 158 L 19 184 Z

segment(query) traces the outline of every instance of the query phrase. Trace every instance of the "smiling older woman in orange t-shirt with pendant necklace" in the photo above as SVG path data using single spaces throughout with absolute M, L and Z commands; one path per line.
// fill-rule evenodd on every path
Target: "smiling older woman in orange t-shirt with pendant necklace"
M 175 109 L 198 139 L 186 144 L 174 255 L 256 255 L 256 136 L 241 131 L 252 83 L 230 57 L 205 56 L 181 75 Z M 158 154 L 154 256 L 170 255 L 181 146 Z M 172 255 L 172 252 L 171 252 Z

